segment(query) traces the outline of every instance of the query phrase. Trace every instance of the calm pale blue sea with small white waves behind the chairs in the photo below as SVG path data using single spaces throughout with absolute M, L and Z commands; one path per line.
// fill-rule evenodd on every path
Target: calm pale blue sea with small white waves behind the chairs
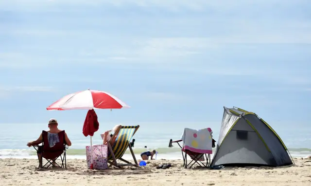
M 219 122 L 137 122 L 137 123 L 106 123 L 100 122 L 100 128 L 92 137 L 93 145 L 103 144 L 101 133 L 111 130 L 115 125 L 139 125 L 134 135 L 134 153 L 140 159 L 140 153 L 146 150 L 157 151 L 156 159 L 182 159 L 180 147 L 173 144 L 169 148 L 170 139 L 179 140 L 184 128 L 213 130 L 213 138 L 218 141 L 220 131 Z M 311 155 L 311 128 L 308 127 L 284 127 L 281 124 L 271 127 L 281 137 L 292 157 L 308 157 Z M 36 140 L 42 130 L 48 130 L 45 123 L 11 123 L 0 124 L 0 158 L 37 158 L 34 148 L 26 146 L 27 142 Z M 90 145 L 90 136 L 85 137 L 82 133 L 81 123 L 60 123 L 59 129 L 66 130 L 72 146 L 67 150 L 68 159 L 86 159 L 86 146 Z M 216 142 L 217 143 L 217 142 Z M 145 146 L 147 148 L 145 148 Z M 213 153 L 215 149 L 213 149 Z M 124 159 L 131 159 L 129 149 L 123 155 Z

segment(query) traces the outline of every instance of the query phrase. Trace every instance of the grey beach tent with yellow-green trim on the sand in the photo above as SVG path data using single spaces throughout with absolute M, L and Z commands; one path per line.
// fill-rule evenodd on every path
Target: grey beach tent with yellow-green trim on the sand
M 292 159 L 281 138 L 253 112 L 225 108 L 211 166 L 285 166 Z

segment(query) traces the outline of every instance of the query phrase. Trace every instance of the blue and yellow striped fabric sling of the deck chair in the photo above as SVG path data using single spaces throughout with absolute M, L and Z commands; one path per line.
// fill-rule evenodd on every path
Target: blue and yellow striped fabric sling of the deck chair
M 112 146 L 112 150 L 116 159 L 119 159 L 123 156 L 137 127 L 138 126 L 122 126 L 120 129 L 117 139 Z M 108 153 L 108 160 L 113 160 L 110 152 Z

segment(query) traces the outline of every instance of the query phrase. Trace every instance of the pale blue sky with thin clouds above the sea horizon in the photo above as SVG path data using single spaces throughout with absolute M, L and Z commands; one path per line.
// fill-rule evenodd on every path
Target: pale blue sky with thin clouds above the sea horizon
M 223 107 L 308 126 L 309 0 L 0 0 L 0 123 L 83 123 L 46 111 L 105 91 L 101 122 L 219 122 Z M 276 124 L 275 124 L 276 125 Z

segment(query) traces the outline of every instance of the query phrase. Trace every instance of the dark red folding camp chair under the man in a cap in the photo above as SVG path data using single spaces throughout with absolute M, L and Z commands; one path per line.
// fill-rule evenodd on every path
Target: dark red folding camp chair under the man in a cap
M 36 151 L 39 159 L 39 153 L 41 153 L 41 158 L 39 161 L 38 168 L 48 168 L 52 164 L 59 166 L 55 161 L 60 157 L 61 159 L 61 166 L 66 168 L 66 142 L 65 142 L 65 130 L 58 132 L 59 142 L 55 144 L 55 146 L 50 147 L 49 140 L 48 140 L 48 132 L 42 131 L 42 141 L 36 142 L 31 144 Z M 42 143 L 42 149 L 38 146 Z M 62 156 L 63 154 L 63 156 Z M 42 160 L 46 159 L 48 162 L 44 165 L 42 163 Z

